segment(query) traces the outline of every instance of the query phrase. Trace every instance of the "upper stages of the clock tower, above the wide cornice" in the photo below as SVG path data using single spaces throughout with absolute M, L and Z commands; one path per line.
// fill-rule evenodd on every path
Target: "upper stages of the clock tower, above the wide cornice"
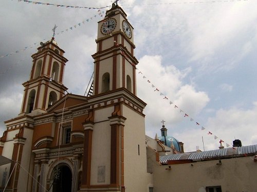
M 126 88 L 136 95 L 133 27 L 117 4 L 98 22 L 93 95 Z

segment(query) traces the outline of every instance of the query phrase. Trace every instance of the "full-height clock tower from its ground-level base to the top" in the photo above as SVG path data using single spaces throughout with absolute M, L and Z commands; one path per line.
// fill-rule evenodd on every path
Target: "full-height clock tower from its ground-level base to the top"
M 96 43 L 79 191 L 148 191 L 146 103 L 136 92 L 133 27 L 117 4 L 98 22 Z

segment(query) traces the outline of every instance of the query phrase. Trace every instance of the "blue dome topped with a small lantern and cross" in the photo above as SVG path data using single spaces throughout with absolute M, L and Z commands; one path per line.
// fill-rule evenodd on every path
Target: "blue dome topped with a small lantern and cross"
M 167 135 L 167 128 L 165 127 L 164 122 L 165 121 L 162 120 L 163 125 L 161 128 L 161 136 L 158 137 L 158 139 L 162 141 L 166 146 L 174 146 L 177 151 L 181 152 L 182 149 L 179 145 L 179 141 L 176 138 Z

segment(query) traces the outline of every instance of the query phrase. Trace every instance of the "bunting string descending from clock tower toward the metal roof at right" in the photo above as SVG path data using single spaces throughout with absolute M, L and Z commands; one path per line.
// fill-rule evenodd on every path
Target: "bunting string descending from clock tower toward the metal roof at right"
M 139 70 L 138 68 L 136 68 L 136 69 Z M 149 83 L 151 84 L 151 81 L 145 75 L 143 75 L 143 73 L 141 71 L 139 71 L 138 74 L 141 74 L 143 79 L 147 79 L 148 84 Z M 156 88 L 154 84 L 151 84 L 151 87 L 154 88 L 154 92 L 160 93 L 160 96 L 162 96 L 162 99 L 169 100 L 168 97 L 166 95 L 164 95 L 158 88 Z M 164 96 L 164 98 L 163 98 L 163 96 Z M 200 123 L 195 121 L 192 117 L 190 117 L 190 115 L 188 113 L 185 113 L 183 110 L 181 110 L 176 104 L 174 104 L 173 101 L 169 100 L 169 103 L 170 103 L 170 105 L 174 106 L 174 109 L 179 110 L 179 112 L 183 115 L 183 117 L 190 119 L 190 121 L 194 122 L 195 125 L 201 127 L 202 131 L 206 130 L 206 128 L 204 126 L 201 126 Z M 213 134 L 210 131 L 207 131 L 207 135 L 212 136 L 214 138 L 214 140 L 216 140 L 218 138 L 215 134 Z M 221 145 L 223 142 L 224 141 L 222 139 L 219 140 L 219 143 L 221 143 Z M 226 143 L 226 146 L 229 147 L 230 144 Z

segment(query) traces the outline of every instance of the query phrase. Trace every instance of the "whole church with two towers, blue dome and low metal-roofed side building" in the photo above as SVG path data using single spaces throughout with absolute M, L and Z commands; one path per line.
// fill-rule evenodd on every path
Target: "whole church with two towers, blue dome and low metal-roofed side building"
M 160 137 L 145 136 L 133 30 L 117 3 L 98 22 L 94 80 L 86 96 L 64 86 L 68 60 L 54 37 L 41 43 L 23 83 L 21 112 L 5 121 L 0 138 L 0 191 L 257 188 L 257 145 L 185 153 L 183 143 L 167 135 L 164 121 Z

